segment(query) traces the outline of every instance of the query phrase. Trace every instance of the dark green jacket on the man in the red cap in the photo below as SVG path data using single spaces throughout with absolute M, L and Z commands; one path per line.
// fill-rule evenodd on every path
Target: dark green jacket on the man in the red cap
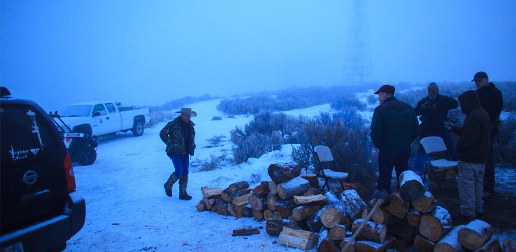
M 409 150 L 419 130 L 414 108 L 389 97 L 375 108 L 371 121 L 371 140 L 376 148 Z

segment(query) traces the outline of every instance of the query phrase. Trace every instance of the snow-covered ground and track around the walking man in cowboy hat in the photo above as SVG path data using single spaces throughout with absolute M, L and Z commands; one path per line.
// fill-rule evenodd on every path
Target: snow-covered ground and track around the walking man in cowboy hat
M 225 118 L 216 109 L 220 100 L 187 105 L 198 113 L 196 123 L 196 155 L 204 160 L 210 154 L 229 151 L 229 132 L 243 127 L 252 116 Z M 289 115 L 315 116 L 329 111 L 330 106 L 296 109 Z M 213 116 L 222 120 L 212 121 Z M 179 185 L 173 187 L 173 197 L 165 195 L 163 184 L 173 171 L 165 154 L 165 144 L 159 131 L 166 122 L 147 128 L 140 137 L 132 133 L 100 138 L 98 157 L 90 166 L 74 164 L 77 191 L 86 200 L 86 223 L 71 240 L 67 251 L 289 251 L 261 230 L 248 237 L 232 237 L 233 229 L 263 227 L 265 222 L 253 218 L 235 219 L 212 212 L 198 212 L 195 205 L 202 198 L 202 186 L 227 187 L 246 180 L 251 186 L 270 180 L 267 167 L 272 163 L 291 161 L 292 147 L 272 151 L 247 163 L 198 172 L 190 169 L 188 193 L 190 201 L 179 200 Z M 205 148 L 207 139 L 224 135 L 223 146 Z M 273 243 L 275 242 L 275 243 Z

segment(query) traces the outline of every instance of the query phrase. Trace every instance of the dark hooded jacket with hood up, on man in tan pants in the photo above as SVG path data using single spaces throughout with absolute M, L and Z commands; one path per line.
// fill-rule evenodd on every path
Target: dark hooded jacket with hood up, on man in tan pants
M 464 126 L 454 129 L 460 135 L 457 143 L 459 160 L 473 164 L 486 163 L 491 140 L 489 115 L 480 106 L 478 95 L 473 90 L 462 93 L 459 103 L 462 113 L 466 114 Z

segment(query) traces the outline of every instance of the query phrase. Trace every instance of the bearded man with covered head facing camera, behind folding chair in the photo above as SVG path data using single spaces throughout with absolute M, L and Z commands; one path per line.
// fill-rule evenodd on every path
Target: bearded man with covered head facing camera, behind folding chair
M 459 102 L 453 98 L 439 95 L 439 87 L 434 82 L 428 84 L 427 90 L 428 96 L 417 102 L 415 107 L 416 115 L 421 116 L 420 138 L 423 139 L 428 136 L 441 137 L 451 155 L 451 159 L 456 161 L 459 157 L 449 131 L 444 128 L 444 122 L 448 121 L 448 111 L 459 107 Z M 426 154 L 420 145 L 414 171 L 418 174 L 423 173 L 425 163 Z

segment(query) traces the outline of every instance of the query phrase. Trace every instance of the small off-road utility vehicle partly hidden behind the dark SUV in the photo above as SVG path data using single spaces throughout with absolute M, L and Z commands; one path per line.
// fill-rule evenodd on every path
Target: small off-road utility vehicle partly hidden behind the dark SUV
M 77 162 L 80 165 L 93 164 L 96 159 L 96 148 L 99 146 L 96 137 L 73 132 L 57 114 L 50 114 L 50 118 L 61 133 L 72 162 Z

